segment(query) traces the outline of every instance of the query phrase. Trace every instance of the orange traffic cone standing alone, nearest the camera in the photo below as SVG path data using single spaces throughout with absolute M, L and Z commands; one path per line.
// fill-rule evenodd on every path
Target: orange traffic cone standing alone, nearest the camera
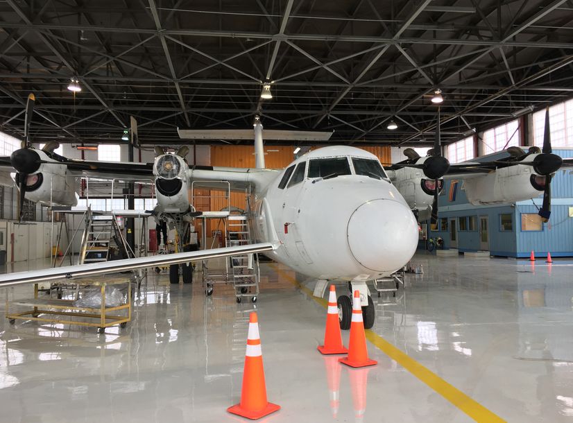
M 241 389 L 241 402 L 227 408 L 229 413 L 257 420 L 265 415 L 280 409 L 277 404 L 266 400 L 266 386 L 264 383 L 263 354 L 259 336 L 257 313 L 253 311 L 249 316 L 249 331 L 247 336 L 247 352 L 245 354 L 245 367 L 243 369 L 243 388 Z

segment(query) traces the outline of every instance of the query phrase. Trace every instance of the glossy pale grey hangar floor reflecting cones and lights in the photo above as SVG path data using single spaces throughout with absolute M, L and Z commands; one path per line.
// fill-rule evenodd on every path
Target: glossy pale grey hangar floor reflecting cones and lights
M 408 275 L 397 297 L 373 295 L 377 334 L 504 420 L 573 419 L 572 261 L 414 261 L 425 273 Z M 225 410 L 240 397 L 253 309 L 268 399 L 282 406 L 261 421 L 472 421 L 371 343 L 379 365 L 367 370 L 321 356 L 326 311 L 293 283 L 314 282 L 276 264 L 262 273 L 257 304 L 237 304 L 228 286 L 205 297 L 200 283 L 152 275 L 133 321 L 105 334 L 2 318 L 0 421 L 247 421 Z

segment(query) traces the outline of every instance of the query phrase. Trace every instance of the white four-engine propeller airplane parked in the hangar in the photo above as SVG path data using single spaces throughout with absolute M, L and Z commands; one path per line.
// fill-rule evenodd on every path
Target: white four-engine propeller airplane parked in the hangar
M 0 166 L 9 163 L 15 168 L 21 191 L 35 201 L 68 200 L 53 194 L 50 197 L 47 182 L 54 175 L 72 183 L 83 174 L 112 178 L 122 174 L 148 176 L 153 172 L 158 210 L 188 221 L 185 216 L 192 218 L 194 212 L 187 193 L 191 181 L 225 180 L 232 189 L 243 192 L 250 187 L 256 242 L 241 247 L 12 273 L 0 276 L 0 286 L 262 252 L 309 277 L 349 282 L 350 293 L 355 290 L 361 293 L 364 316 L 374 316 L 366 282 L 392 275 L 413 257 L 418 244 L 418 222 L 412 210 L 420 206 L 427 209 L 433 202 L 435 221 L 444 175 L 465 178 L 468 198 L 480 204 L 525 200 L 544 190 L 540 215 L 549 218 L 551 175 L 562 166 L 563 159 L 551 154 L 548 122 L 546 118 L 542 153 L 530 150 L 521 154 L 521 150 L 513 149 L 507 159 L 451 166 L 440 155 L 409 157 L 406 162 L 391 166 L 389 175 L 375 155 L 350 146 L 317 148 L 285 169 L 265 169 L 259 121 L 255 121 L 255 169 L 189 168 L 183 157 L 173 153 L 157 155 L 153 164 L 117 164 L 66 159 L 55 155 L 53 150 L 22 148 L 12 153 L 9 160 L 0 157 Z M 180 130 L 182 136 L 193 136 L 186 134 Z M 436 144 L 439 147 L 439 139 Z M 567 165 L 570 162 L 569 159 Z M 404 189 L 410 182 L 421 187 L 422 194 L 420 190 Z M 348 329 L 352 303 L 343 298 L 349 300 L 347 295 L 339 297 L 339 316 L 341 327 Z M 373 318 L 367 318 L 365 327 L 372 327 L 373 322 Z

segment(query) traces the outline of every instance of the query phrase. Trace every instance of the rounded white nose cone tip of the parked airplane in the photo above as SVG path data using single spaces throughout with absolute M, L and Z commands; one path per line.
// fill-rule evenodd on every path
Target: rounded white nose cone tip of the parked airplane
M 394 271 L 418 246 L 418 223 L 411 210 L 394 200 L 371 200 L 350 216 L 348 246 L 359 264 L 377 272 Z

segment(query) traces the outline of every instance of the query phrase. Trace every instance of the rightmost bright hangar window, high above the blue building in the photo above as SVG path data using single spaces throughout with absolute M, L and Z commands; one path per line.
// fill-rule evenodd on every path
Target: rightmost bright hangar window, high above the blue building
M 549 107 L 551 147 L 573 147 L 573 100 Z M 545 109 L 533 113 L 533 145 L 543 145 Z

